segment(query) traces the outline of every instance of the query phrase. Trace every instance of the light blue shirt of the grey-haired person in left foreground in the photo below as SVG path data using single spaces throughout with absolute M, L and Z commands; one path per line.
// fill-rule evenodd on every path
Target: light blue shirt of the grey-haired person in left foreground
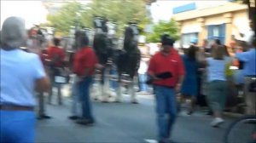
M 35 82 L 45 77 L 37 54 L 0 49 L 0 105 L 35 106 Z

